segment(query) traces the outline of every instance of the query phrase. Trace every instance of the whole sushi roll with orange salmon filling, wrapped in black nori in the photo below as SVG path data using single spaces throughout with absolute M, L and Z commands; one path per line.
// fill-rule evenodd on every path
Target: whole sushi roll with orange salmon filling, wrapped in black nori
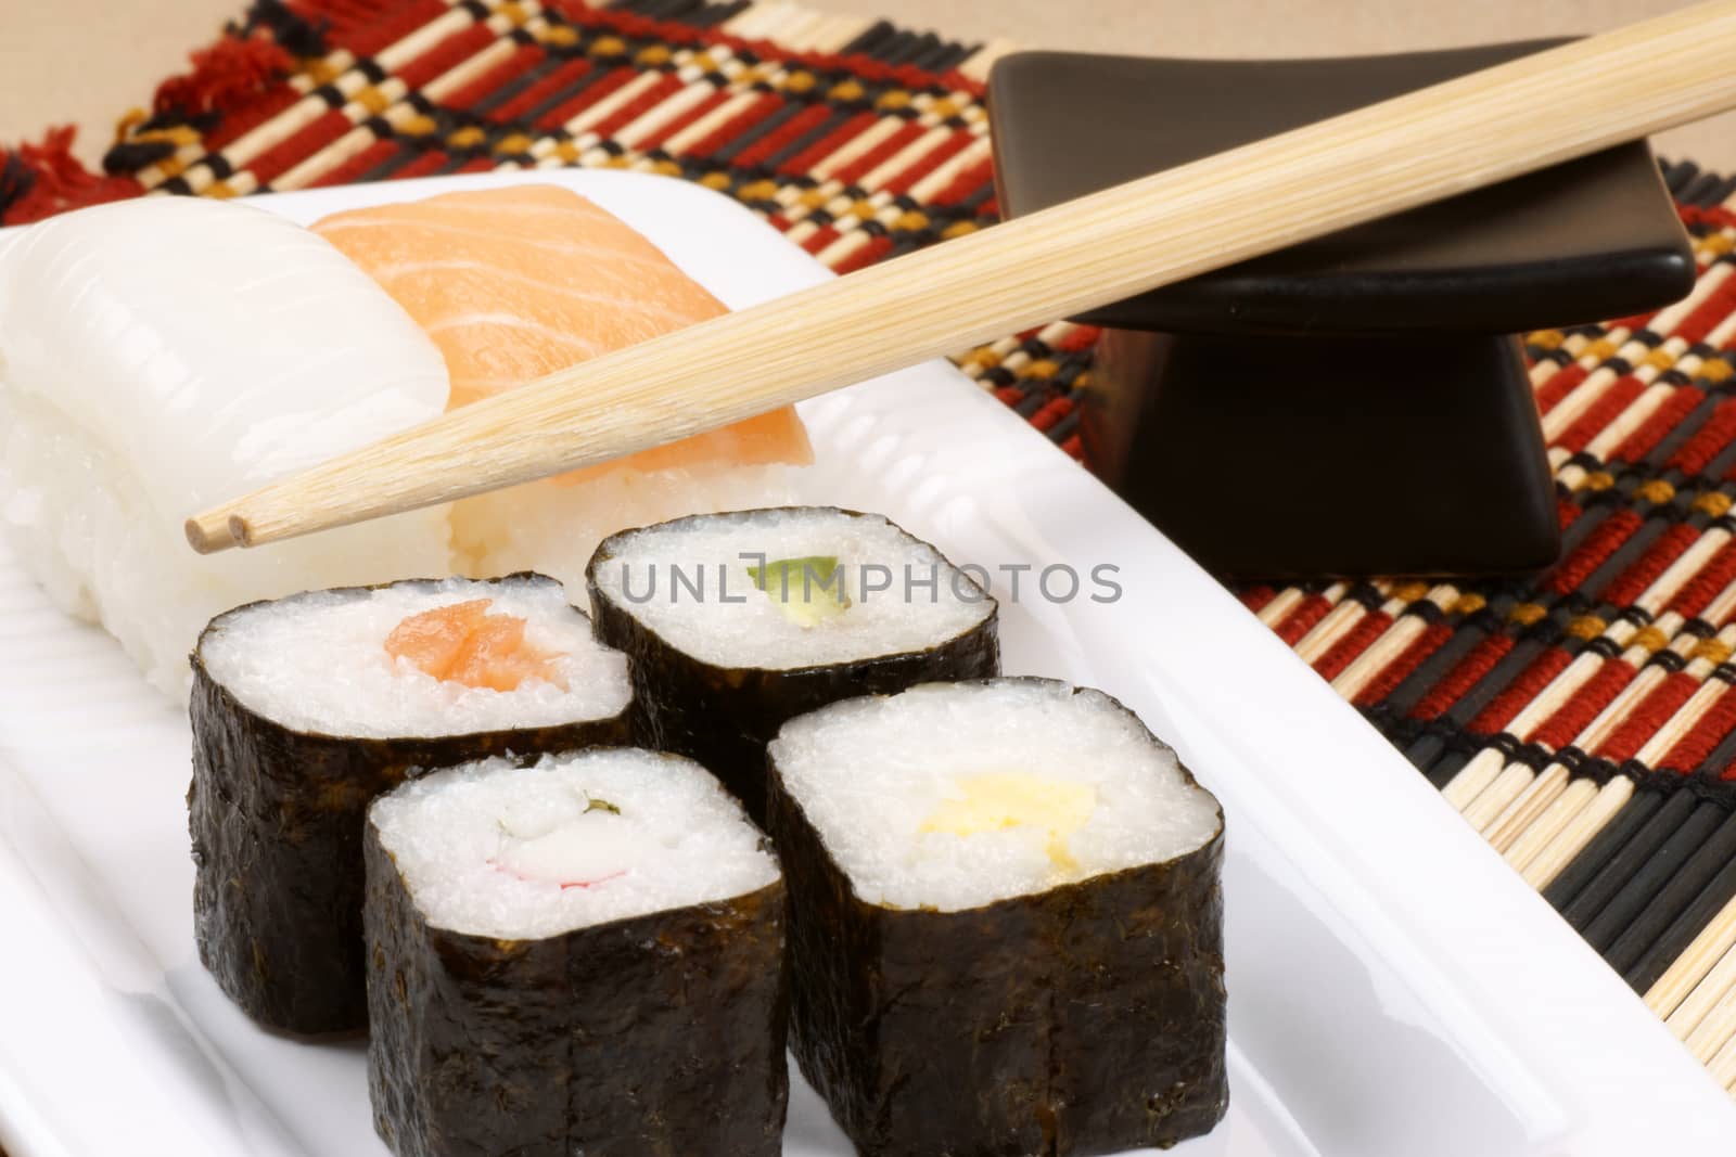
M 627 657 L 559 583 L 351 586 L 217 616 L 193 652 L 200 959 L 253 1020 L 366 1027 L 361 831 L 417 768 L 634 739 Z

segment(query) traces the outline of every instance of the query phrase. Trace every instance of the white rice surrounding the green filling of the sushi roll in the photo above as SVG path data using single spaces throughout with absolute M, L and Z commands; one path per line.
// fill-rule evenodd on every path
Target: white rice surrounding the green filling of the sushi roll
M 606 550 L 611 557 L 594 569 L 602 597 L 684 654 L 726 668 L 797 670 L 924 650 L 995 612 L 970 576 L 880 515 L 786 507 L 682 519 L 621 534 Z M 814 626 L 792 619 L 748 574 L 760 559 L 809 557 L 838 560 L 851 604 Z M 674 569 L 689 583 L 703 578 L 700 597 Z M 884 581 L 891 586 L 871 590 Z

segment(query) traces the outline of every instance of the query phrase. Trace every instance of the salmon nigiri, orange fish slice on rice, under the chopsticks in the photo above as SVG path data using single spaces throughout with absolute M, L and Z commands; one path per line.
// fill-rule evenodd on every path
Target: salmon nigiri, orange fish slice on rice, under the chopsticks
M 646 180 L 651 180 L 649 177 Z M 439 347 L 450 406 L 726 312 L 618 217 L 550 184 L 448 193 L 314 226 Z M 812 461 L 802 420 L 776 409 L 720 430 L 453 507 L 472 574 L 542 571 L 583 588 L 608 534 L 686 513 L 779 505 Z

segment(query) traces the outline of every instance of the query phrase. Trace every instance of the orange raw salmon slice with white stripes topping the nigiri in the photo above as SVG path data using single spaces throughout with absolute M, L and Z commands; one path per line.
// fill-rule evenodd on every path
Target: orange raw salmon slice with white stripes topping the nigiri
M 446 357 L 450 406 L 726 312 L 618 217 L 559 186 L 446 193 L 314 226 L 403 305 Z M 807 465 L 790 408 L 580 472 Z

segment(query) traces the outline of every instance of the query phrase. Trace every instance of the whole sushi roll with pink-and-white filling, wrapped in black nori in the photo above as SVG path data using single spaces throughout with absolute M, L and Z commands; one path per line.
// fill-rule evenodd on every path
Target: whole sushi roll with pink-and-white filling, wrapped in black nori
M 470 763 L 368 812 L 368 1089 L 399 1157 L 773 1157 L 783 879 L 705 768 Z

